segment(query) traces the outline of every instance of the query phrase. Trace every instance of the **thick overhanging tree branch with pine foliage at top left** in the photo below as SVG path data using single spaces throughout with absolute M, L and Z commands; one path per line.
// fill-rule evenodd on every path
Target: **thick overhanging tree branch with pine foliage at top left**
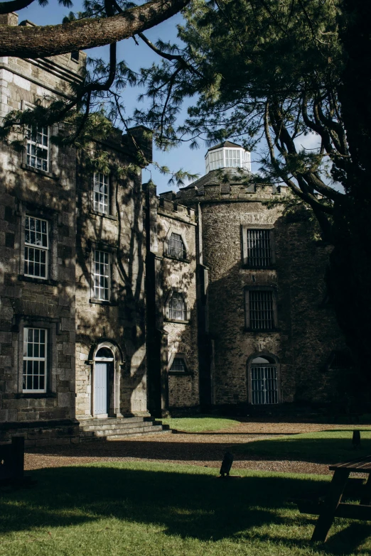
M 35 0 L 11 0 L 0 2 L 0 14 L 12 9 L 21 9 Z M 72 6 L 70 0 L 58 0 L 64 6 Z M 141 75 L 137 74 L 124 60 L 117 58 L 117 40 L 134 38 L 142 40 L 157 55 L 168 60 L 178 60 L 183 69 L 188 67 L 181 57 L 162 53 L 142 31 L 155 26 L 188 3 L 189 0 L 151 0 L 136 5 L 127 0 L 85 0 L 83 11 L 70 12 L 61 25 L 54 26 L 0 26 L 0 52 L 26 58 L 68 53 L 92 46 L 109 44 L 109 63 L 100 58 L 88 58 L 87 71 L 82 83 L 72 85 L 71 97 L 55 100 L 44 97 L 36 101 L 35 109 L 11 111 L 0 127 L 0 139 L 16 149 L 23 149 L 23 138 L 27 126 L 51 126 L 58 123 L 59 131 L 52 141 L 65 146 L 74 145 L 91 152 L 91 141 L 102 141 L 119 127 L 129 133 L 134 143 L 136 156 L 134 166 L 149 163 L 146 153 L 129 130 L 135 124 L 125 110 L 124 89 L 137 85 Z M 39 0 L 45 6 L 48 0 Z M 151 132 L 148 131 L 148 136 Z M 107 153 L 90 156 L 96 168 L 107 165 Z M 185 170 L 171 172 L 158 166 L 161 173 L 171 174 L 171 182 L 183 184 L 185 178 L 195 178 Z M 117 168 L 123 172 L 124 168 Z

